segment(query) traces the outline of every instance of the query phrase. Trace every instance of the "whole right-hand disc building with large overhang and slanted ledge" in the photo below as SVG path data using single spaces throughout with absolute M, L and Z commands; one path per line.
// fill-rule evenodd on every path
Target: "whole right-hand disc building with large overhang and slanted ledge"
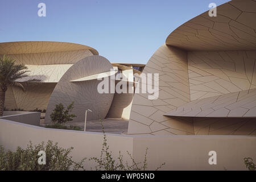
M 235 0 L 173 31 L 143 73 L 159 73 L 159 98 L 137 93 L 128 134 L 256 134 L 256 2 Z

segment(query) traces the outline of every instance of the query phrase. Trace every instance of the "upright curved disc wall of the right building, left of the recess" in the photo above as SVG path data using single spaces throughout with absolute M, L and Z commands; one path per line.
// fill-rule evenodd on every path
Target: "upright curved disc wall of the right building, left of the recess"
M 159 97 L 148 100 L 148 93 L 134 94 L 128 134 L 193 134 L 192 121 L 164 116 L 166 109 L 189 102 L 187 52 L 163 45 L 148 61 L 143 73 L 159 73 Z

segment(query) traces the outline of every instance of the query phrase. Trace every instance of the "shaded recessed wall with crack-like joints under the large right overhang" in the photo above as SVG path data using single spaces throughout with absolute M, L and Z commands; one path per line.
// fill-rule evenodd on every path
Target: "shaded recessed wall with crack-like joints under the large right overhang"
M 189 51 L 191 100 L 256 88 L 256 51 Z

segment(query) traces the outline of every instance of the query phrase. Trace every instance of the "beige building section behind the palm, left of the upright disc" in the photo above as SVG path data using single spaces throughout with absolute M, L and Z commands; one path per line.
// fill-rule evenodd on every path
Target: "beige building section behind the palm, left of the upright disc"
M 27 75 L 16 81 L 23 82 L 25 92 L 12 86 L 6 92 L 6 109 L 46 109 L 53 89 L 64 73 L 80 59 L 97 55 L 88 46 L 62 42 L 7 42 L 0 43 L 0 56 L 9 55 L 17 64 L 28 67 Z M 26 83 L 30 79 L 40 83 Z

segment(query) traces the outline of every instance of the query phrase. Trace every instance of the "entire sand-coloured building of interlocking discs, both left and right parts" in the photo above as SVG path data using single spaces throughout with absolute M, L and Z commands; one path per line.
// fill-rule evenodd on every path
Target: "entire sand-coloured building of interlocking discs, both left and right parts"
M 46 122 L 51 122 L 56 104 L 74 101 L 75 121 L 84 121 L 90 109 L 88 120 L 129 121 L 131 135 L 255 135 L 254 5 L 230 1 L 217 7 L 216 17 L 207 11 L 182 24 L 146 67 L 110 63 L 95 49 L 74 43 L 0 43 L 0 55 L 10 55 L 31 71 L 16 80 L 26 92 L 14 86 L 7 90 L 6 109 L 47 109 Z M 97 74 L 109 69 L 128 78 L 131 93 L 97 92 Z M 141 73 L 159 74 L 159 97 L 149 100 L 148 93 L 135 93 Z M 41 81 L 26 82 L 31 78 Z

